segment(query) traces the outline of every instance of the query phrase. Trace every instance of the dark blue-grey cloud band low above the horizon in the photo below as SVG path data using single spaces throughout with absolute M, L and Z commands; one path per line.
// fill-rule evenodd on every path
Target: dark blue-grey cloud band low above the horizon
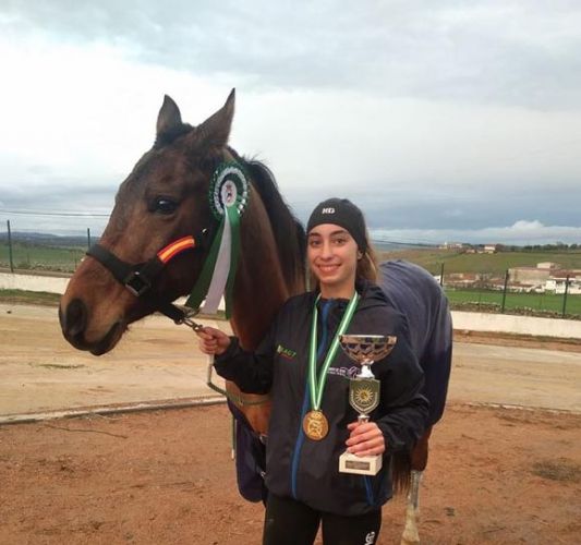
M 13 229 L 21 231 L 36 229 L 83 233 L 88 227 L 94 233 L 99 233 L 107 223 L 107 217 L 100 215 L 110 213 L 117 187 L 117 183 L 93 182 L 87 186 L 81 185 L 81 180 L 69 180 L 65 185 L 27 184 L 20 191 L 3 190 L 0 220 L 4 225 L 5 219 L 10 219 Z M 425 235 L 421 234 L 422 230 L 436 231 L 435 238 L 429 239 L 429 242 L 441 242 L 450 238 L 481 242 L 475 231 L 512 226 L 521 219 L 536 220 L 545 226 L 579 226 L 578 199 L 571 198 L 567 192 L 555 193 L 550 189 L 545 193 L 506 191 L 487 194 L 481 191 L 474 195 L 458 192 L 428 194 L 401 187 L 391 191 L 387 186 L 371 191 L 363 185 L 332 190 L 327 187 L 323 191 L 296 192 L 289 189 L 283 191 L 283 196 L 303 223 L 319 201 L 329 196 L 351 198 L 364 210 L 370 228 L 397 231 L 399 238 L 391 240 L 408 242 L 426 242 Z M 2 211 L 14 209 L 49 215 L 10 215 Z M 50 216 L 56 213 L 78 213 L 78 216 Z M 99 216 L 90 216 L 90 213 Z M 401 234 L 406 230 L 409 233 Z M 453 237 L 455 232 L 458 237 Z M 576 233 L 577 231 L 567 241 L 581 242 L 573 240 Z M 439 240 L 438 237 L 444 239 Z M 517 239 L 509 237 L 510 233 L 504 240 L 517 243 Z M 546 240 L 554 242 L 556 239 Z

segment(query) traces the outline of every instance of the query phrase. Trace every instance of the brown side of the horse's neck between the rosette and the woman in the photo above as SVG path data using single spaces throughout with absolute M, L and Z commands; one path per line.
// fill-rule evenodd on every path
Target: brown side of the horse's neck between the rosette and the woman
M 250 211 L 250 210 L 249 210 Z M 282 275 L 275 238 L 261 206 L 241 232 L 241 255 L 233 294 L 232 328 L 246 350 L 266 335 L 278 310 L 294 292 Z

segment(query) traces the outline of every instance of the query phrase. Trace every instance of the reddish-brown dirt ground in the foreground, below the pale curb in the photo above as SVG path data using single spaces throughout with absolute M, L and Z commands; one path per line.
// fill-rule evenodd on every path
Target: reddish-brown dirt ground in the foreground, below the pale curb
M 223 405 L 0 427 L 0 543 L 259 543 Z M 451 404 L 432 441 L 425 544 L 579 543 L 581 415 Z M 402 498 L 384 509 L 398 543 Z

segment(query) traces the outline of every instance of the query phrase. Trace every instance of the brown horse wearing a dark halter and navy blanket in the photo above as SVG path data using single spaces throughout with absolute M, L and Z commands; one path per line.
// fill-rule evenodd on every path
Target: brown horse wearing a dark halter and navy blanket
M 89 250 L 69 282 L 59 316 L 66 340 L 100 355 L 121 339 L 129 324 L 160 311 L 180 323 L 171 302 L 191 292 L 218 232 L 208 193 L 220 165 L 241 166 L 250 179 L 247 209 L 240 218 L 240 246 L 231 324 L 241 344 L 254 349 L 282 303 L 304 290 L 304 231 L 280 196 L 269 170 L 228 146 L 234 92 L 198 126 L 182 123 L 166 97 L 157 137 L 121 184 L 100 243 Z M 166 259 L 167 256 L 171 258 Z M 380 267 L 382 286 L 408 316 L 412 344 L 426 372 L 432 423 L 441 415 L 451 356 L 451 325 L 441 290 L 419 267 L 395 262 Z M 410 306 L 410 301 L 415 301 Z M 429 384 L 427 384 L 429 383 Z M 252 428 L 267 429 L 269 402 L 227 384 L 229 399 Z M 435 409 L 434 409 L 435 408 Z M 427 438 L 411 456 L 411 470 L 427 461 Z M 409 477 L 410 465 L 403 472 Z M 412 480 L 404 538 L 417 541 L 419 473 Z

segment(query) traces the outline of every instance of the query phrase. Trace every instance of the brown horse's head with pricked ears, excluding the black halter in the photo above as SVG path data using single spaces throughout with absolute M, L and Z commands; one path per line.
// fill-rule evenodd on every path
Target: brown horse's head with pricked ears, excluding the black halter
M 220 110 L 192 126 L 182 123 L 175 102 L 165 98 L 156 142 L 121 184 L 100 247 L 126 266 L 149 262 L 184 237 L 193 237 L 189 245 L 195 247 L 156 270 L 144 298 L 131 293 L 102 258 L 89 253 L 71 278 L 59 308 L 63 335 L 75 348 L 96 355 L 108 352 L 130 323 L 158 310 L 160 301 L 190 292 L 203 265 L 201 249 L 216 228 L 208 187 L 215 168 L 228 154 L 233 112 L 232 90 Z M 140 290 L 141 279 L 136 280 L 133 286 Z

